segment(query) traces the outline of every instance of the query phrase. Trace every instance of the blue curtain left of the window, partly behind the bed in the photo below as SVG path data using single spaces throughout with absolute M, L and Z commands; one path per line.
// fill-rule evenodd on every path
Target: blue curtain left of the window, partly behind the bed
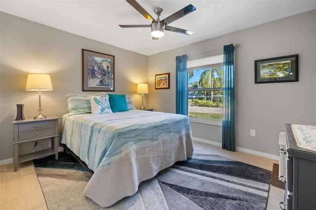
M 176 113 L 188 115 L 187 55 L 176 57 Z

